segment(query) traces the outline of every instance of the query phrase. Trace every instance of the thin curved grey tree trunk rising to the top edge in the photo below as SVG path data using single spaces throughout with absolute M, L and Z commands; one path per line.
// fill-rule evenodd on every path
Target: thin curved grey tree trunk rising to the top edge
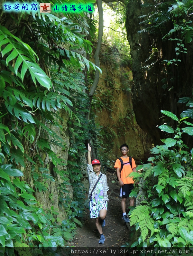
M 101 43 L 102 43 L 102 37 L 103 37 L 103 6 L 102 6 L 102 0 L 97 0 L 97 7 L 98 7 L 98 42 L 97 42 L 97 46 L 96 46 L 96 52 L 94 55 L 94 59 L 95 59 L 95 65 L 100 67 L 100 62 L 99 62 L 99 52 L 101 49 Z M 92 102 L 92 98 L 93 95 L 95 93 L 97 84 L 99 81 L 99 71 L 96 70 L 95 72 L 95 79 L 93 81 L 92 87 L 90 89 L 90 92 L 88 94 L 89 96 L 89 100 L 90 100 L 90 106 L 89 106 L 89 112 L 87 112 L 86 118 L 89 119 L 90 118 L 90 109 L 91 109 L 91 102 Z

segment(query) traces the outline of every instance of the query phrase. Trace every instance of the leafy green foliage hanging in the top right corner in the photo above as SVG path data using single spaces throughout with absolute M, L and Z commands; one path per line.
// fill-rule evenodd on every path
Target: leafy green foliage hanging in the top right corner
M 176 57 L 170 60 L 163 60 L 168 66 L 170 64 L 178 65 L 181 62 L 182 53 L 187 53 L 185 44 L 192 43 L 193 40 L 193 1 L 155 1 L 155 4 L 146 4 L 142 6 L 151 10 L 148 14 L 140 16 L 141 24 L 144 27 L 139 33 L 148 32 L 150 34 L 161 33 L 162 40 L 173 41 L 172 50 Z M 172 51 L 172 52 L 173 52 Z M 158 57 L 159 49 L 156 48 L 156 42 L 152 43 L 152 52 L 149 60 L 154 59 L 146 68 L 152 68 L 155 64 L 155 57 Z

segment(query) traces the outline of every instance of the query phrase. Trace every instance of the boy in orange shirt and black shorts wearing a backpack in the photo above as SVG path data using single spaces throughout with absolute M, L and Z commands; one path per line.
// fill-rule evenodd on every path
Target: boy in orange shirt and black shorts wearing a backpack
M 119 159 L 116 160 L 115 162 L 115 168 L 116 168 L 116 174 L 117 174 L 117 178 L 119 180 L 119 184 L 120 184 L 120 196 L 122 197 L 121 199 L 121 207 L 123 210 L 123 220 L 125 222 L 130 222 L 129 218 L 126 215 L 126 199 L 129 196 L 129 194 L 131 193 L 132 189 L 134 188 L 133 184 L 134 184 L 134 180 L 133 178 L 128 177 L 128 175 L 132 172 L 136 172 L 136 165 L 135 165 L 135 160 L 132 158 L 132 167 L 130 166 L 129 163 L 129 156 L 128 154 L 128 150 L 129 147 L 127 144 L 123 144 L 120 147 L 121 149 L 121 159 L 123 160 L 124 164 L 123 169 L 120 173 L 120 169 L 121 169 L 121 162 Z M 129 197 L 129 203 L 130 206 L 134 206 L 134 198 L 133 197 Z

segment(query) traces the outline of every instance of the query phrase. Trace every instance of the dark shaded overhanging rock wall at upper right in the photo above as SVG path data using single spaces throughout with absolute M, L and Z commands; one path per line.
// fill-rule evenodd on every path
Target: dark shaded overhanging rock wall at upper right
M 157 125 L 165 121 L 176 128 L 175 122 L 162 119 L 160 110 L 168 110 L 178 117 L 185 106 L 178 104 L 180 97 L 192 96 L 193 88 L 193 45 L 189 44 L 188 54 L 180 55 L 181 62 L 164 65 L 163 60 L 176 58 L 176 41 L 162 40 L 164 33 L 172 28 L 170 23 L 155 34 L 138 33 L 143 29 L 139 16 L 149 13 L 150 8 L 142 4 L 153 1 L 131 0 L 126 6 L 126 30 L 132 56 L 132 101 L 133 111 L 139 126 L 152 136 L 154 145 L 160 145 L 163 133 Z

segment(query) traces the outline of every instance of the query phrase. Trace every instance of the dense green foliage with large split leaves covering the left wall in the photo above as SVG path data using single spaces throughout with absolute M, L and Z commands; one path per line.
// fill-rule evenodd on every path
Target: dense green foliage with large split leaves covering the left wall
M 96 67 L 83 56 L 92 51 L 84 15 L 58 16 L 1 13 L 1 247 L 65 246 L 83 213 L 77 161 L 89 130 L 83 132 L 87 95 L 82 71 Z M 70 147 L 63 130 L 67 119 Z M 50 194 L 52 206 L 45 209 L 36 197 L 50 193 L 55 181 L 58 205 Z M 57 217 L 59 207 L 64 220 Z

